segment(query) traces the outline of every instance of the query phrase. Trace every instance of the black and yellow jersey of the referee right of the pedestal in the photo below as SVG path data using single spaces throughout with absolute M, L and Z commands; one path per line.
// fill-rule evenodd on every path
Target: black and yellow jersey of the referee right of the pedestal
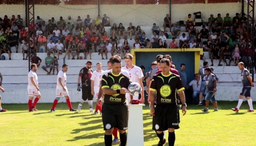
M 170 73 L 163 75 L 163 73 L 154 75 L 150 86 L 151 91 L 156 92 L 156 104 L 175 104 L 176 103 L 176 89 L 178 91 L 184 90 L 179 75 Z

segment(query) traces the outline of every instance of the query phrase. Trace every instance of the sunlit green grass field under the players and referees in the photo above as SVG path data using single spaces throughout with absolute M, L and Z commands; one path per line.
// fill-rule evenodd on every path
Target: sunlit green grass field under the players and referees
M 220 101 L 218 104 L 218 112 L 213 112 L 214 108 L 210 105 L 206 113 L 201 111 L 204 106 L 188 105 L 187 114 L 181 116 L 180 129 L 175 131 L 175 145 L 256 145 L 256 112 L 247 112 L 247 102 L 242 104 L 239 113 L 230 110 L 237 105 L 237 101 Z M 74 108 L 77 105 L 73 103 Z M 0 146 L 104 146 L 101 115 L 89 113 L 87 103 L 81 112 L 75 113 L 68 110 L 66 103 L 58 103 L 55 112 L 50 112 L 51 106 L 52 103 L 38 103 L 37 112 L 28 112 L 27 104 L 2 104 L 8 111 L 0 113 Z M 144 145 L 157 145 L 159 140 L 151 130 L 149 106 L 143 109 Z

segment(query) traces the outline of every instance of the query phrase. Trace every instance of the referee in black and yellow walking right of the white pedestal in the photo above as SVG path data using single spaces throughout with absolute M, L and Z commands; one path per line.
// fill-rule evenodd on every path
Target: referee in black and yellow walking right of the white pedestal
M 156 135 L 160 139 L 158 146 L 165 144 L 166 140 L 164 139 L 163 131 L 168 129 L 169 146 L 173 146 L 175 142 L 174 129 L 180 128 L 178 120 L 179 109 L 176 104 L 176 89 L 180 93 L 183 116 L 187 112 L 187 104 L 185 103 L 184 87 L 180 80 L 180 76 L 170 72 L 171 64 L 169 59 L 163 58 L 160 61 L 160 67 L 162 73 L 154 75 L 150 86 L 151 103 L 154 103 L 156 99 L 156 107 L 154 107 L 154 104 L 151 104 L 150 110 L 150 113 L 153 116 L 152 129 L 156 131 Z

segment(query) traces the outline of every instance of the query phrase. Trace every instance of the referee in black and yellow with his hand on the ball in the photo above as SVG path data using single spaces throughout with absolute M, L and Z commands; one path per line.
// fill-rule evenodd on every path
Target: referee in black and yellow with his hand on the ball
M 114 127 L 119 131 L 121 146 L 126 145 L 128 127 L 128 109 L 125 93 L 128 92 L 130 79 L 121 73 L 122 60 L 115 57 L 111 61 L 112 71 L 102 76 L 101 88 L 104 92 L 102 105 L 102 122 L 105 130 L 105 145 L 112 145 Z

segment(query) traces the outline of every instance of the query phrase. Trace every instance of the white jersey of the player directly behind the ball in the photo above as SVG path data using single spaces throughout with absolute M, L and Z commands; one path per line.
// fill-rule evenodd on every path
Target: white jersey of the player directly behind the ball
M 136 65 L 133 65 L 132 68 L 127 68 L 127 66 L 125 66 L 122 68 L 122 70 L 128 71 L 131 82 L 139 83 L 139 78 L 144 77 L 141 68 L 137 67 Z

